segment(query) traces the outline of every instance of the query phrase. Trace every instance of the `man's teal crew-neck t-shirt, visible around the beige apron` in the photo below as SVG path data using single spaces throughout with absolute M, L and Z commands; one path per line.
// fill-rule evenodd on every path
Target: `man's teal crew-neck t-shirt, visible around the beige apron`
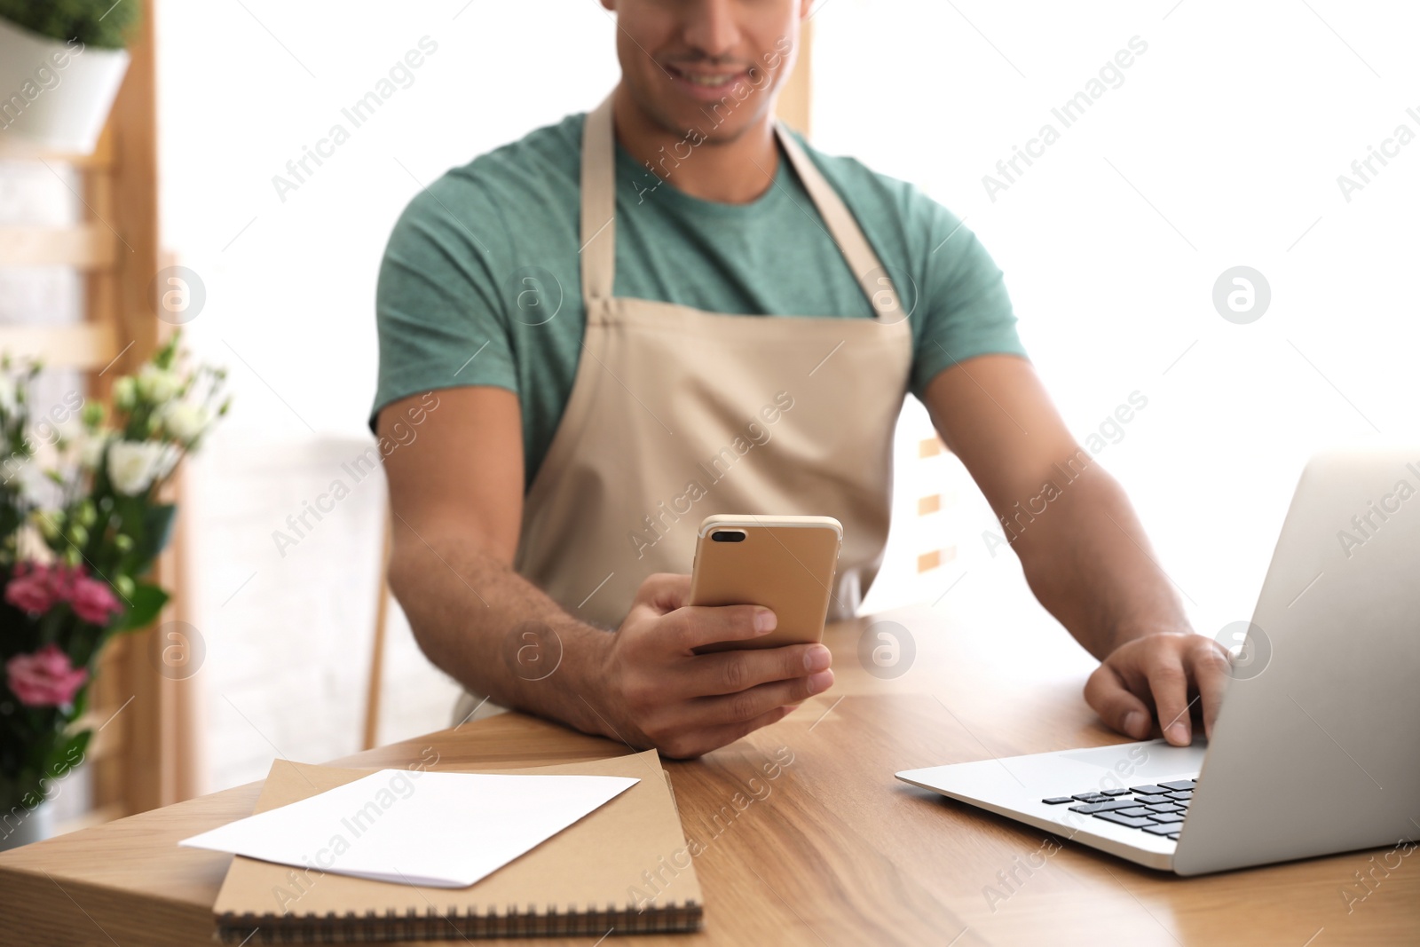
M 405 209 L 379 271 L 372 427 L 400 398 L 507 388 L 523 407 L 531 486 L 582 351 L 584 119 L 569 115 L 479 156 Z M 956 362 L 1025 355 L 1001 270 L 951 212 L 851 158 L 805 149 L 909 312 L 913 393 Z M 772 187 L 751 203 L 723 204 L 677 190 L 673 168 L 662 180 L 618 145 L 613 292 L 740 315 L 873 315 L 782 153 Z

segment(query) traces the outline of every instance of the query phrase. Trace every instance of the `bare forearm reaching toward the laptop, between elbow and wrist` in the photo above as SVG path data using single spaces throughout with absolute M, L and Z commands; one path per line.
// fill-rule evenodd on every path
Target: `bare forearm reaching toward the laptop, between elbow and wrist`
M 1119 483 L 1091 466 L 1056 486 L 1012 542 L 1041 605 L 1099 659 L 1142 635 L 1189 630 Z

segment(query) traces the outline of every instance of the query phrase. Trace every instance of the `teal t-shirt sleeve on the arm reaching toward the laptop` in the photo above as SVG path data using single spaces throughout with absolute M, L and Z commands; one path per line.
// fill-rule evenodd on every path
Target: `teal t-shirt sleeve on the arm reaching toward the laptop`
M 912 365 L 912 392 L 922 398 L 943 369 L 977 355 L 1025 358 L 1025 346 L 1005 275 L 991 254 L 956 214 L 920 192 L 914 196 L 929 234 L 917 301 L 923 324 Z

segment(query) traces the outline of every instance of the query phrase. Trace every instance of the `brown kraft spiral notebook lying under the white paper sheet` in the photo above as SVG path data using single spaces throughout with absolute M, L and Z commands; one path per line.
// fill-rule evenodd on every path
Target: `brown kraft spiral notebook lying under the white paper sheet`
M 254 811 L 297 802 L 371 772 L 277 760 Z M 594 762 L 477 772 L 609 775 L 639 782 L 463 889 L 305 872 L 233 856 L 213 906 L 222 940 L 254 944 L 530 934 L 601 937 L 613 927 L 618 933 L 700 929 L 700 883 L 669 779 L 653 750 Z

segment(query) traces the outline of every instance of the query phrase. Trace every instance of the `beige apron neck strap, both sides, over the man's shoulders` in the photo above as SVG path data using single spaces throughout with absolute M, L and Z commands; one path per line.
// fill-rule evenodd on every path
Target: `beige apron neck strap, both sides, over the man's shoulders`
M 592 300 L 608 300 L 616 277 L 616 135 L 612 124 L 612 98 L 586 115 L 582 129 L 582 298 L 591 308 Z M 849 213 L 842 197 L 832 189 L 818 166 L 809 159 L 782 122 L 774 125 L 775 136 L 788 155 L 790 163 L 804 182 L 804 190 L 828 224 L 828 233 L 838 244 L 849 268 L 858 278 L 863 295 L 872 302 L 879 319 L 897 321 L 902 305 L 892 278 L 878 260 L 858 220 Z

